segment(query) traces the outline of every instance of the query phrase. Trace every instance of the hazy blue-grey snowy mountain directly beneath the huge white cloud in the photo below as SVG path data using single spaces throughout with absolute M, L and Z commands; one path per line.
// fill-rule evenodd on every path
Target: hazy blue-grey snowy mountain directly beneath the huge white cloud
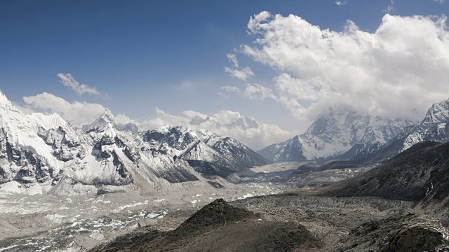
M 408 120 L 390 120 L 330 108 L 304 134 L 268 146 L 258 153 L 274 162 L 321 160 L 347 153 L 356 145 L 385 144 L 411 124 Z

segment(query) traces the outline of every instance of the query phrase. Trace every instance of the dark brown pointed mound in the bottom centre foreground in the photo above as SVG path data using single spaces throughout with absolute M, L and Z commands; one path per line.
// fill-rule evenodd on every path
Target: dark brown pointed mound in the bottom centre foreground
M 128 235 L 93 251 L 319 251 L 322 246 L 302 225 L 264 221 L 220 199 L 171 232 Z

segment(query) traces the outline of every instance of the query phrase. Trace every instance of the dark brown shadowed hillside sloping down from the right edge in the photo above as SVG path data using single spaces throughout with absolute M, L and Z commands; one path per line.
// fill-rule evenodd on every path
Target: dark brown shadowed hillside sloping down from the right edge
M 442 202 L 449 191 L 449 143 L 422 142 L 383 165 L 324 188 L 332 197 Z

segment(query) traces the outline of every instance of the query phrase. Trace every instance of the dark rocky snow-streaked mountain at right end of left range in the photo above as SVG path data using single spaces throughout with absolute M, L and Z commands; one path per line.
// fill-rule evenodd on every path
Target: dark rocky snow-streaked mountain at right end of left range
M 230 137 L 220 137 L 207 130 L 189 130 L 185 127 L 163 126 L 140 133 L 142 139 L 159 153 L 189 161 L 199 172 L 227 176 L 269 161 L 247 146 Z M 219 167 L 206 172 L 205 167 Z

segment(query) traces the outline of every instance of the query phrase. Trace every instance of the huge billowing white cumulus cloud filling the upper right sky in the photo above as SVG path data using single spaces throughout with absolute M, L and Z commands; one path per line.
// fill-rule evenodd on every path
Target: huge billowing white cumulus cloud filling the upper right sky
M 262 94 L 297 118 L 314 120 L 329 106 L 345 106 L 417 120 L 432 103 L 449 97 L 446 20 L 386 14 L 374 32 L 349 20 L 342 31 L 332 31 L 296 15 L 264 11 L 250 18 L 253 43 L 240 50 L 276 70 L 272 83 L 264 85 L 271 93 Z M 239 94 L 247 88 L 223 87 Z

